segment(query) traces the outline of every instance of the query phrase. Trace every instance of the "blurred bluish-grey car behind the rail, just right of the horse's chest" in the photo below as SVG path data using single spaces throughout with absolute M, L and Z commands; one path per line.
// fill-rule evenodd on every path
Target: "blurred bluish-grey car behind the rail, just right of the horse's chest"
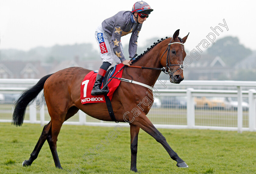
M 187 97 L 163 97 L 161 103 L 163 108 L 187 108 Z

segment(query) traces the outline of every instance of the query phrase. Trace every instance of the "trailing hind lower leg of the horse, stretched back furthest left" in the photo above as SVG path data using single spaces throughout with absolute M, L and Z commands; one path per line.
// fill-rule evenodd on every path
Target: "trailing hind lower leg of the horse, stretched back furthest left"
M 23 166 L 31 165 L 32 162 L 37 158 L 42 146 L 44 145 L 45 140 L 47 139 L 47 136 L 48 136 L 50 130 L 51 130 L 51 121 L 47 125 L 44 126 L 41 136 L 39 137 L 39 140 L 37 141 L 37 144 L 36 144 L 33 152 L 30 154 L 29 160 L 25 160 L 22 163 Z

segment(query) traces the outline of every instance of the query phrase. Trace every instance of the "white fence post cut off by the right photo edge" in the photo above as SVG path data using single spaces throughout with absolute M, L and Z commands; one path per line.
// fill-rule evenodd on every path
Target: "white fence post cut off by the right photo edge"
M 249 131 L 256 128 L 256 104 L 254 100 L 254 89 L 249 90 Z

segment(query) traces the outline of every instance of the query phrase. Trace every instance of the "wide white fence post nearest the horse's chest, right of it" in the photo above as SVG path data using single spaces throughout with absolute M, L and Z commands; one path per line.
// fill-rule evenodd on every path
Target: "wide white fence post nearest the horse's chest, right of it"
M 193 88 L 187 88 L 187 126 L 189 129 L 195 126 L 194 97 L 192 97 Z

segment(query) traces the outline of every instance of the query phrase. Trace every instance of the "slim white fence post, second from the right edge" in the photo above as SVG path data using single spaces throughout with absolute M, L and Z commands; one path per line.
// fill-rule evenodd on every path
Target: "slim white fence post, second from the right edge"
M 242 107 L 242 89 L 240 86 L 237 86 L 237 132 L 242 133 L 243 128 L 243 107 Z

